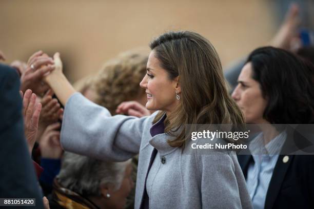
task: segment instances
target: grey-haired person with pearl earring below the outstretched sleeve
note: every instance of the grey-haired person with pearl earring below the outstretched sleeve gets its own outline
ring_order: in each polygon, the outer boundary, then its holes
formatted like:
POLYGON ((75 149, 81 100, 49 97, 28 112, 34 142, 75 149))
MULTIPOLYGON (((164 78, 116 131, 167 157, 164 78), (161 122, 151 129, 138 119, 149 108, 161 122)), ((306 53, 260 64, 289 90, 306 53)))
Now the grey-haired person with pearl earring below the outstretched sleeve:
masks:
POLYGON ((134 183, 130 161, 106 162, 66 152, 51 208, 124 208, 134 183))

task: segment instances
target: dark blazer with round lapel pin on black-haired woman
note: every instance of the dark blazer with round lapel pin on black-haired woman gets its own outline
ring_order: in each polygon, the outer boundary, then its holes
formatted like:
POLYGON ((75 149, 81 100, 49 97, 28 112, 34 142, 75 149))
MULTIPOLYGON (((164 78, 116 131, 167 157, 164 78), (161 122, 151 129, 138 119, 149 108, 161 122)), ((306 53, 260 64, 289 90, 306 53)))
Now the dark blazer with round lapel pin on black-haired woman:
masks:
MULTIPOLYGON (((290 139, 291 134, 288 134, 282 151, 291 150, 290 139)), ((238 160, 246 179, 253 158, 238 155, 238 160)), ((265 208, 314 208, 314 155, 279 155, 269 182, 265 208)))

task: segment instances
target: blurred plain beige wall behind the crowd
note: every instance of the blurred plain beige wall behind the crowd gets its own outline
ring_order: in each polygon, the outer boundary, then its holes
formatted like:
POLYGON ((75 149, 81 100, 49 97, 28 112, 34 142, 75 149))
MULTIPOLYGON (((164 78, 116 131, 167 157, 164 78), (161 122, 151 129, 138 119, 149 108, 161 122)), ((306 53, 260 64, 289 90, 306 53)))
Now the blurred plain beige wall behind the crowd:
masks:
POLYGON ((223 65, 270 39, 264 1, 0 1, 0 49, 7 63, 42 49, 60 51, 71 81, 100 69, 120 52, 147 47, 167 30, 207 37, 223 65))

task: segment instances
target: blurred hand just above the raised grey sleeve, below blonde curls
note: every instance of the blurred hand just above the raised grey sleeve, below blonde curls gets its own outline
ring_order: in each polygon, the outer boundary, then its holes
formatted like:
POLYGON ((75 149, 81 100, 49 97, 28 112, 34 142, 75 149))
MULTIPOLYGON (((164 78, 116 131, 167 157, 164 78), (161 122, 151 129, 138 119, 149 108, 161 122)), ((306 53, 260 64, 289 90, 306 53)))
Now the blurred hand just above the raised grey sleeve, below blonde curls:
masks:
POLYGON ((135 117, 149 116, 150 112, 137 101, 122 102, 115 111, 117 114, 126 114, 135 117))

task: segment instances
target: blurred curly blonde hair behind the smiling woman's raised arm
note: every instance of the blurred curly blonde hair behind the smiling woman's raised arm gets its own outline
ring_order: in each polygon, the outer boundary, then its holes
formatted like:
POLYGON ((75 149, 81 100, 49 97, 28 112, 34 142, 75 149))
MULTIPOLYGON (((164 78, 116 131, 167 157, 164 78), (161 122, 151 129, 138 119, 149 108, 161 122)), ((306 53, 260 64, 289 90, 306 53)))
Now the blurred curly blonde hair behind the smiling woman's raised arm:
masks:
POLYGON ((147 60, 148 53, 130 51, 106 62, 93 79, 94 102, 115 115, 121 102, 144 96, 145 89, 140 88, 140 82, 146 73, 147 60))

